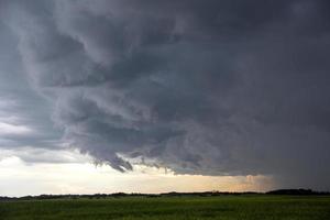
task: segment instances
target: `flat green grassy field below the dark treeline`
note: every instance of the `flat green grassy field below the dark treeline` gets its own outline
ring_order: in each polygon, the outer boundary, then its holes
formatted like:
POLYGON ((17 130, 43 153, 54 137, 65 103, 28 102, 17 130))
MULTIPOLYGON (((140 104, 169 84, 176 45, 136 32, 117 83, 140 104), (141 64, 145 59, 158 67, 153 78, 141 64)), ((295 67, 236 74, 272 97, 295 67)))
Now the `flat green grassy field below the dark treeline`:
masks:
POLYGON ((127 197, 1 201, 2 220, 51 219, 330 219, 330 197, 127 197))

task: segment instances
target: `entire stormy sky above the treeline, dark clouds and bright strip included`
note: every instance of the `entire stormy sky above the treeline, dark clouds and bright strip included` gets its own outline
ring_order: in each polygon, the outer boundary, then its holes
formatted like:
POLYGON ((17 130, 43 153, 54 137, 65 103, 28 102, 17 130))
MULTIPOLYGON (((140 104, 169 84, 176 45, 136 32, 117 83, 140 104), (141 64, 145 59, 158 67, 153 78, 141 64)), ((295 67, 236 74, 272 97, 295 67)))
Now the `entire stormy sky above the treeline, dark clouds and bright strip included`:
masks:
POLYGON ((0 0, 0 195, 330 190, 328 0, 0 0))

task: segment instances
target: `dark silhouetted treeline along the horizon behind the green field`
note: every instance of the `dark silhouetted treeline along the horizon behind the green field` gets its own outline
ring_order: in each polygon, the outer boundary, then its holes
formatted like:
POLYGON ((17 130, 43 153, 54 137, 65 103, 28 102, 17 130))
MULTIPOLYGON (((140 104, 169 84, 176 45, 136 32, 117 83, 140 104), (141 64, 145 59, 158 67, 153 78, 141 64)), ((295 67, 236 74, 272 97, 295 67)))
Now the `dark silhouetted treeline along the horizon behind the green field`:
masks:
POLYGON ((256 193, 256 191, 243 191, 243 193, 232 193, 232 191, 204 191, 204 193, 164 193, 164 194, 94 194, 94 195, 40 195, 40 196, 23 196, 23 197, 0 197, 0 201, 3 200, 34 200, 34 199, 101 199, 101 198, 122 198, 122 197, 182 197, 182 196, 200 196, 200 197, 211 197, 211 196, 241 196, 241 195, 293 195, 293 196, 330 196, 330 191, 314 191, 311 189, 277 189, 267 193, 256 193))

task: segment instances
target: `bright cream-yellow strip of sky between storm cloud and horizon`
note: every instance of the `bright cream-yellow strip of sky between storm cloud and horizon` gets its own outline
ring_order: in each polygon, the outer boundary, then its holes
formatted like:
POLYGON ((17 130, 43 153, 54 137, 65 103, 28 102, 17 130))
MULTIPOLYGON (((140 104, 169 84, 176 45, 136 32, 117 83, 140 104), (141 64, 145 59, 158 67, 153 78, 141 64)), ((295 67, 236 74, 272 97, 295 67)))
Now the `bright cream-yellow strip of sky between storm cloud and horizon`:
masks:
POLYGON ((119 173, 108 165, 96 166, 91 158, 74 151, 38 150, 29 162, 32 148, 1 150, 0 195, 41 194, 111 194, 164 191, 264 191, 272 189, 267 176, 200 176, 175 175, 164 168, 135 166, 134 172, 119 173), (53 156, 50 160, 36 157, 53 156), (62 157, 58 157, 58 156, 62 157), (56 160, 57 157, 57 160, 56 160), (47 162, 46 162, 47 161, 47 162))

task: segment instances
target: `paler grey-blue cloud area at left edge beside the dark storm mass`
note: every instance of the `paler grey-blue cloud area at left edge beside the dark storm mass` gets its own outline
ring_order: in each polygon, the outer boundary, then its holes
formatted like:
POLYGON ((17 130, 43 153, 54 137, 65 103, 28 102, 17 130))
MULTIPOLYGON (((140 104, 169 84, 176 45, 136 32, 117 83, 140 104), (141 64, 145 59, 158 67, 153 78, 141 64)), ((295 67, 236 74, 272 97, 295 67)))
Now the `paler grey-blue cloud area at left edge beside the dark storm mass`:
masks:
POLYGON ((6 21, 0 21, 0 147, 54 147, 61 135, 52 129, 51 109, 30 88, 20 64, 19 41, 6 21))

